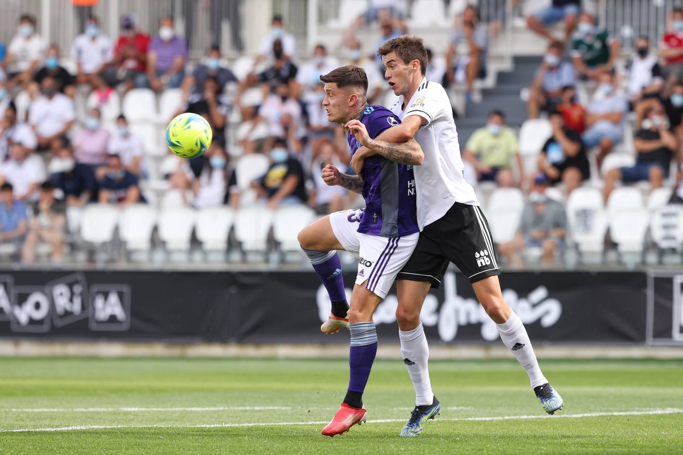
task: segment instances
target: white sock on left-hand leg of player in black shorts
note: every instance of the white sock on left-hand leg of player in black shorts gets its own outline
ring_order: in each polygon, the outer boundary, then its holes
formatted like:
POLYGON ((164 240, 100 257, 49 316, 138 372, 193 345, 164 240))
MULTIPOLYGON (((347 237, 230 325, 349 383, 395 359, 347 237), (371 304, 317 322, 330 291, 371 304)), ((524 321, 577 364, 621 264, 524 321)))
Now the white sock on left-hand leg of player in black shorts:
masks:
POLYGON ((429 347, 422 323, 408 332, 398 331, 401 339, 403 362, 408 367, 408 375, 415 387, 415 405, 431 405, 434 401, 432 383, 429 380, 429 347))

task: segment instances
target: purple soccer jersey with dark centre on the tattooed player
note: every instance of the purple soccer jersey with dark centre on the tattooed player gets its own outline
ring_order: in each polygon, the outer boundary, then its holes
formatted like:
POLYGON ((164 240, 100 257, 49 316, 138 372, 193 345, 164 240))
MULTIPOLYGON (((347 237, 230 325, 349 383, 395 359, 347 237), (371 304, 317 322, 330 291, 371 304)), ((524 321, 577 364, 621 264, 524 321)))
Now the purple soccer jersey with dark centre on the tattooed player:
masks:
MULTIPOLYGON (((401 121, 382 106, 365 106, 360 121, 371 138, 401 121)), ((350 132, 347 136, 351 156, 361 147, 350 132)), ((419 232, 417 192, 413 166, 399 164, 375 155, 363 163, 365 210, 359 233, 382 237, 402 237, 419 232)))

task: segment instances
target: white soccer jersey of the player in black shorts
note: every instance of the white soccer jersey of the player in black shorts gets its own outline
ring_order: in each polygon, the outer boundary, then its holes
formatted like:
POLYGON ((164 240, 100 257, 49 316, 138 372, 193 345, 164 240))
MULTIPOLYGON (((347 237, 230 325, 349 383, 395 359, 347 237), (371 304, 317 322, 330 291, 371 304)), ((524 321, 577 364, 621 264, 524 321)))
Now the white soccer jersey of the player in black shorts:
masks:
POLYGON ((420 231, 446 214, 455 202, 479 205, 474 188, 463 176, 458 132, 451 102, 440 84, 422 79, 417 91, 405 104, 403 96, 391 111, 403 120, 419 115, 427 120, 415 133, 425 154, 420 166, 413 168, 417 187, 417 223, 420 231))

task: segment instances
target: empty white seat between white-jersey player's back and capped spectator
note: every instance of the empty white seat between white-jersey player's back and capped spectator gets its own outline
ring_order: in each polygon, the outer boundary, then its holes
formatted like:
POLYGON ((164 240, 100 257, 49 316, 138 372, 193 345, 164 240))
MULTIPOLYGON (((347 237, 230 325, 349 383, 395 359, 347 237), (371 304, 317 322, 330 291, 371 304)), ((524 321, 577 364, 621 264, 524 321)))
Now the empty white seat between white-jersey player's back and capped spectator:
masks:
POLYGON ((511 241, 519 228, 524 196, 517 188, 497 188, 488 199, 486 218, 496 244, 511 241))

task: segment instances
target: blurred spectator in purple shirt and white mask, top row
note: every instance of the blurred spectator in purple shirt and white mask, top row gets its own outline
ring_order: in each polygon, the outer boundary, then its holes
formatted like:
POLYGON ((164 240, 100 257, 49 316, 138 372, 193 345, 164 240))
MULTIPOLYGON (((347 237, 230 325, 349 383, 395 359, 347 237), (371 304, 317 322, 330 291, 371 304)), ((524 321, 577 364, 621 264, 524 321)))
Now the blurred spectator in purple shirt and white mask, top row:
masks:
POLYGON ((159 20, 159 33, 152 39, 147 55, 147 78, 136 83, 161 91, 164 87, 177 89, 185 77, 187 43, 173 30, 173 18, 159 20))

